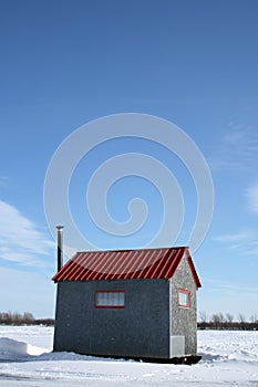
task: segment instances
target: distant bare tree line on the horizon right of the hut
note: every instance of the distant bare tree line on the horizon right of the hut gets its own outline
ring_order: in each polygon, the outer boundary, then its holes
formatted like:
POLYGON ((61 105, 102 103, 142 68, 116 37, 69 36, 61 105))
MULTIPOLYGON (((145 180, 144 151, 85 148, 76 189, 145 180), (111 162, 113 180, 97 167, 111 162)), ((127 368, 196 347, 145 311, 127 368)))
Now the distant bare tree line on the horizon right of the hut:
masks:
POLYGON ((237 318, 230 313, 223 314, 214 313, 208 316, 206 312, 199 313, 197 323, 199 330, 240 330, 240 331, 258 331, 257 315, 251 315, 249 321, 242 313, 239 313, 237 318))

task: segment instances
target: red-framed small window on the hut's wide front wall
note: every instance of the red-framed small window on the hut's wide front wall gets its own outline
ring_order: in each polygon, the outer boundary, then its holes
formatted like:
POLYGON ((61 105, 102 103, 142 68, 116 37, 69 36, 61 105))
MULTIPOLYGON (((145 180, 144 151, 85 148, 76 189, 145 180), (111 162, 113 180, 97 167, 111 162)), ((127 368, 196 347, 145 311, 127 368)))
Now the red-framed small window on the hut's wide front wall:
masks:
POLYGON ((95 307, 123 308, 124 291, 123 290, 95 291, 95 307))

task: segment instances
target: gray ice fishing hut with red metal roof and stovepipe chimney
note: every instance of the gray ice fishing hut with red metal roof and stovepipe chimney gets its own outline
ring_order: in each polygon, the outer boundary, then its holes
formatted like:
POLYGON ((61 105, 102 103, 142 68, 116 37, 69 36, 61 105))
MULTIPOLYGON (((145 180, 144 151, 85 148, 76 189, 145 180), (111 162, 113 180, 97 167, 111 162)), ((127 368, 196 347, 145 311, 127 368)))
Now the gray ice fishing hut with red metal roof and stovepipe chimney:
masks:
POLYGON ((164 360, 196 356, 200 282, 187 247, 78 252, 53 281, 54 351, 164 360))

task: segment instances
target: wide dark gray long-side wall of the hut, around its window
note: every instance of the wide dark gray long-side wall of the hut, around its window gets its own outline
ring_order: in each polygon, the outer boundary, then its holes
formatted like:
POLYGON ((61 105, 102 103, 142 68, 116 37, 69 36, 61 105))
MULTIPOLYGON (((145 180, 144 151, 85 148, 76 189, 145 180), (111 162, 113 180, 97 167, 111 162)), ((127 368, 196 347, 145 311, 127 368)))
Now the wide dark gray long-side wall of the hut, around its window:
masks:
POLYGON ((169 357, 169 282, 60 282, 54 351, 169 357), (95 308, 95 290, 125 290, 125 308, 95 308))

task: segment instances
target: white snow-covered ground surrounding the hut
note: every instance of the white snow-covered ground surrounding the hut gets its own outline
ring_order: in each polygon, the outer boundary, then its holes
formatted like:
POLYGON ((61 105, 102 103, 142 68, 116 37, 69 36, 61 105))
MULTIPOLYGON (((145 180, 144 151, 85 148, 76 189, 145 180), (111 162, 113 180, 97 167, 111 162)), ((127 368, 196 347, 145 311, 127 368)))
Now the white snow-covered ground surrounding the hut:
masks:
POLYGON ((193 366, 51 353, 53 328, 0 326, 0 386, 258 387, 258 332, 199 331, 193 366))

